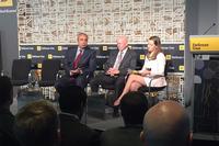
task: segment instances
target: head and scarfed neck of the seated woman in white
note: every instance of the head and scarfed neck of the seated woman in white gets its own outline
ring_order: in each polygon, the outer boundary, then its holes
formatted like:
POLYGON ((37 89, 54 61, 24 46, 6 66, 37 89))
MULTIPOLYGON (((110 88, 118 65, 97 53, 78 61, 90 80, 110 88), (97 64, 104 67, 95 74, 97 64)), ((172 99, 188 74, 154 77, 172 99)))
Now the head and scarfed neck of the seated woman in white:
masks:
POLYGON ((148 58, 155 59, 161 50, 161 41, 158 36, 151 36, 148 40, 148 58))

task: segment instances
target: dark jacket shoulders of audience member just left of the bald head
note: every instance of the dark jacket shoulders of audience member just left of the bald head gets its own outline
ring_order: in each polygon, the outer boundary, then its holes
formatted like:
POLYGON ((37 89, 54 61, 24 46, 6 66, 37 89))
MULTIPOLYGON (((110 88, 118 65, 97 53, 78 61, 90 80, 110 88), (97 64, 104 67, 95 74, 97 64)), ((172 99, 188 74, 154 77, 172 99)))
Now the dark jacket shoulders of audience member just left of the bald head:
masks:
POLYGON ((140 141, 141 126, 117 127, 101 135, 101 146, 143 146, 140 141))

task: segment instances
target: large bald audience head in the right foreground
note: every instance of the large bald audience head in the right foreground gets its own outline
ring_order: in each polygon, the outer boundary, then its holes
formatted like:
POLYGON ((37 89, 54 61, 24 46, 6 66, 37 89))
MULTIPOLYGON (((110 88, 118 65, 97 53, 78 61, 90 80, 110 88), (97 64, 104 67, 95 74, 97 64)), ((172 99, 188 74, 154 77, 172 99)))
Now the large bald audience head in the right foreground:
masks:
POLYGON ((145 115, 141 139, 145 146, 188 146, 189 117, 175 101, 163 101, 145 115))

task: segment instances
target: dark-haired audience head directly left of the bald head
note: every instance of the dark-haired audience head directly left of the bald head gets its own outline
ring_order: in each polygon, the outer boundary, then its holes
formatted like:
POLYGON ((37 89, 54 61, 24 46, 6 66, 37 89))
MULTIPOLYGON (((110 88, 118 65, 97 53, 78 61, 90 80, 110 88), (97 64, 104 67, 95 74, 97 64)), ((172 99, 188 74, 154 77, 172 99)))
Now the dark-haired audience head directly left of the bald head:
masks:
POLYGON ((126 126, 142 125, 148 101, 143 93, 131 91, 124 96, 120 102, 122 115, 126 126))

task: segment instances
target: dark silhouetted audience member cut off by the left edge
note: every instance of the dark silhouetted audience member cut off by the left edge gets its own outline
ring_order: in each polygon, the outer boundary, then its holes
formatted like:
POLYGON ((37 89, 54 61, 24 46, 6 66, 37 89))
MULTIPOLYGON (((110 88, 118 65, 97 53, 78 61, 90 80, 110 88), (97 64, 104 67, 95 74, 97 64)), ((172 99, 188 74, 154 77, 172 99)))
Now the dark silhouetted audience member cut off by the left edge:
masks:
POLYGON ((0 76, 0 145, 14 145, 14 115, 10 112, 13 102, 13 87, 7 76, 0 76))

